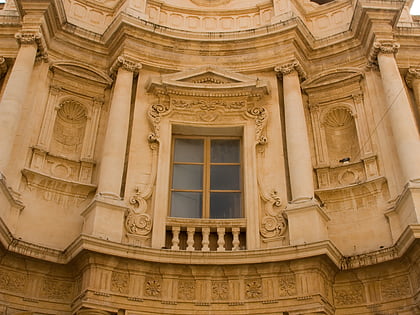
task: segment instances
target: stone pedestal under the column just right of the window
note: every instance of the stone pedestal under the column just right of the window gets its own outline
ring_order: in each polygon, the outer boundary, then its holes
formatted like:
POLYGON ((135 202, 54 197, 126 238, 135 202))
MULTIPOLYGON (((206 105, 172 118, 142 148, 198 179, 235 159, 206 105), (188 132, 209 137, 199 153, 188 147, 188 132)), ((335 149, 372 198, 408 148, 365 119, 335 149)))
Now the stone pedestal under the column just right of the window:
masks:
POLYGON ((328 240, 327 222, 330 219, 316 201, 290 203, 285 213, 289 225, 290 245, 328 240))

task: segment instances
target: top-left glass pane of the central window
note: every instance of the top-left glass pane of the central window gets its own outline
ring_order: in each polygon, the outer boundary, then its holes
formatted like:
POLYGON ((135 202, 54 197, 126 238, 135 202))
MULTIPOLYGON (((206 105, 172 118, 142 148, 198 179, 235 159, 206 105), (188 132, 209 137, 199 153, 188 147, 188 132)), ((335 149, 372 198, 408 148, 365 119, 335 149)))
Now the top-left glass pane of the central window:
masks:
POLYGON ((203 139, 175 139, 175 162, 203 162, 203 139))

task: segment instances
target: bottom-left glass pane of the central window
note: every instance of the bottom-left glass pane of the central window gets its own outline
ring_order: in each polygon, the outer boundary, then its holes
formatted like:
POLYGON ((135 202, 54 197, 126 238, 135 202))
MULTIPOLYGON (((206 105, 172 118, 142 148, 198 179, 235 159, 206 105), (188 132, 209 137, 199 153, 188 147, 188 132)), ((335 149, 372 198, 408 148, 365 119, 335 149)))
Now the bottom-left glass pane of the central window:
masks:
POLYGON ((171 216, 201 218, 202 194, 200 192, 172 192, 171 216))

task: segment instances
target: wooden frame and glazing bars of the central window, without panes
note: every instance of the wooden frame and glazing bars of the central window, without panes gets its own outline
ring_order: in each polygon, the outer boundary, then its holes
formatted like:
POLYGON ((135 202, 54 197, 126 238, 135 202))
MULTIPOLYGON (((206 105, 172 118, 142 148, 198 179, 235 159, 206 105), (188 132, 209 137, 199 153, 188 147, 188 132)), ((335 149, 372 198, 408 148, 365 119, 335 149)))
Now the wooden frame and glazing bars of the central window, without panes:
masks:
POLYGON ((206 219, 206 220, 232 220, 232 219, 242 219, 245 218, 245 210, 244 210, 244 159, 243 159, 243 139, 242 136, 230 136, 230 135, 198 135, 198 134, 173 134, 171 138, 171 161, 170 161, 170 178, 169 178, 169 196, 168 196, 168 214, 167 216, 170 218, 183 218, 183 219, 206 219), (175 142, 176 139, 202 139, 203 140, 203 162, 175 162, 175 142), (211 162, 211 141, 212 140, 238 140, 239 141, 239 162, 211 162), (174 178, 174 166, 175 165, 202 165, 202 175, 203 175, 203 182, 201 190, 193 190, 193 189, 174 189, 173 186, 173 178, 174 178), (210 179, 211 173, 210 169, 212 165, 239 165, 239 189, 211 189, 210 179), (174 191, 201 191, 202 193, 202 200, 201 200, 201 217, 178 217, 172 215, 172 193, 174 191), (223 193, 240 193, 240 214, 237 217, 229 217, 229 218, 215 218, 211 217, 211 207, 210 207, 210 196, 212 192, 223 192, 223 193))

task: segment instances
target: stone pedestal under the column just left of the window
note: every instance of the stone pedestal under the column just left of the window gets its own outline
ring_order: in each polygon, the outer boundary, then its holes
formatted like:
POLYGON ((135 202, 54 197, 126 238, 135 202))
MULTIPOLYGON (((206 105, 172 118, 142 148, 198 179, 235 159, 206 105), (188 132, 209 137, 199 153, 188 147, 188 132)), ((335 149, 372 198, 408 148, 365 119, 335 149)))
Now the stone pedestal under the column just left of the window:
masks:
POLYGON ((120 243, 127 206, 122 200, 97 195, 82 212, 82 233, 120 243))

